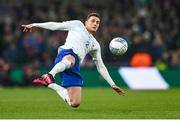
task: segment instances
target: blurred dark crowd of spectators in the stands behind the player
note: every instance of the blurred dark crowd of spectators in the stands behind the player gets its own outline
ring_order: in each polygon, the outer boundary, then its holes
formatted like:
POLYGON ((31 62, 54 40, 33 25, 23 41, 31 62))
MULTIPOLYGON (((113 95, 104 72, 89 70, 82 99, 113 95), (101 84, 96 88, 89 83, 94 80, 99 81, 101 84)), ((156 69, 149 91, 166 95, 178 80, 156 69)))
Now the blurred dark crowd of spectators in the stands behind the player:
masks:
MULTIPOLYGON (((84 21, 90 12, 101 15, 95 36, 107 66, 178 68, 179 11, 179 0, 0 0, 0 79, 10 81, 6 74, 16 67, 22 68, 28 79, 37 76, 42 67, 51 68, 57 48, 67 35, 37 28, 23 33, 22 24, 84 21), (128 41, 123 56, 112 55, 108 48, 110 40, 117 36, 128 41)), ((82 66, 93 67, 90 59, 87 55, 82 66)))

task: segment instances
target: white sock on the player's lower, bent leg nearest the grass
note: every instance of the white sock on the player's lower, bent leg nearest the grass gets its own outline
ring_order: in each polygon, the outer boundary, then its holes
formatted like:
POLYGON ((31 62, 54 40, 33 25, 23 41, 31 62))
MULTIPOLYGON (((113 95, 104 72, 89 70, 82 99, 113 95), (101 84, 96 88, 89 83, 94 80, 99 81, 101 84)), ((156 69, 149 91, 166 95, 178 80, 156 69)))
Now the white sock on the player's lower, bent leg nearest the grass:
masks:
POLYGON ((56 83, 51 83, 51 84, 48 85, 48 87, 55 90, 58 93, 58 95, 65 102, 68 103, 68 105, 71 105, 67 89, 61 87, 60 85, 57 85, 56 83))

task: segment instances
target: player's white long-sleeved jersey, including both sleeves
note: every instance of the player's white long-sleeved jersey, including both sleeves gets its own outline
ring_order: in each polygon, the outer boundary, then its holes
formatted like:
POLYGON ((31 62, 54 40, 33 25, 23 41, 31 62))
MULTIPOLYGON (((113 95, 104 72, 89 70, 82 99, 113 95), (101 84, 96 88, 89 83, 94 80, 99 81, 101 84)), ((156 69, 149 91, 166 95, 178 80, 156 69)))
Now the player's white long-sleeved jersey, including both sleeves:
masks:
POLYGON ((33 23, 35 27, 45 28, 49 30, 68 31, 66 42, 59 48, 73 49, 82 62, 87 53, 90 53, 95 61, 98 72, 112 86, 114 85, 101 58, 101 48, 97 40, 85 28, 84 24, 79 20, 66 22, 45 22, 33 23))

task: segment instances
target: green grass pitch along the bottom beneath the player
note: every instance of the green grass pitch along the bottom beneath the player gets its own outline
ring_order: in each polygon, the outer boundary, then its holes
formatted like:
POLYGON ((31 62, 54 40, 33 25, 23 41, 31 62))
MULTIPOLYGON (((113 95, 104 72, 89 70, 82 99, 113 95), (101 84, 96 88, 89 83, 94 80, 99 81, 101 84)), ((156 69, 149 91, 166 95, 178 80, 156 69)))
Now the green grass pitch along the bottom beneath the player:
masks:
POLYGON ((111 88, 83 88, 82 104, 71 108, 48 88, 0 88, 4 118, 180 118, 180 89, 133 91, 124 97, 111 88))

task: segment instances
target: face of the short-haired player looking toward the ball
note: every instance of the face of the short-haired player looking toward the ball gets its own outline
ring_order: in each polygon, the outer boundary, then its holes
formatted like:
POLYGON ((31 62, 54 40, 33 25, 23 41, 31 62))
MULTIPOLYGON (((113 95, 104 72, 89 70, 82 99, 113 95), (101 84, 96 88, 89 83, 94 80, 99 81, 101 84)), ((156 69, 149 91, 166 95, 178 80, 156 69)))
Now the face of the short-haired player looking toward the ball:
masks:
POLYGON ((100 19, 96 16, 91 16, 89 19, 85 22, 85 27, 90 33, 95 33, 100 24, 100 19))

